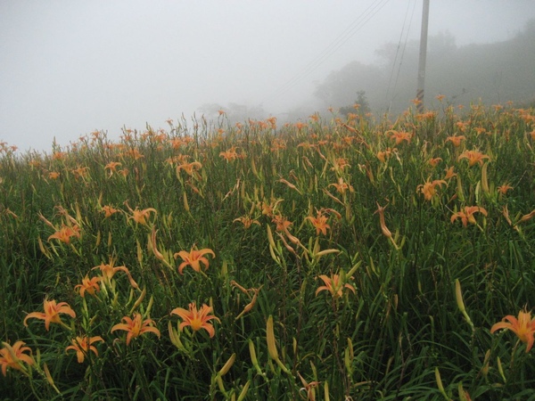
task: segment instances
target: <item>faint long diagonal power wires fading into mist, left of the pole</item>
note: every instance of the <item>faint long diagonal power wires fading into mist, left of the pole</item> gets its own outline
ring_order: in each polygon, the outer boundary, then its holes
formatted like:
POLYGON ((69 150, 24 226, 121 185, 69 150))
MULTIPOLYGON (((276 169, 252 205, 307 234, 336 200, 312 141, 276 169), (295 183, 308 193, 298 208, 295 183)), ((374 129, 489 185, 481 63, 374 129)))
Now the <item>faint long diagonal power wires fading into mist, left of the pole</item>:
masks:
POLYGON ((308 77, 312 72, 317 70, 317 68, 323 64, 336 50, 338 50, 342 45, 344 45, 350 37, 355 35, 359 29, 364 27, 366 23, 371 20, 374 15, 381 11, 390 0, 374 0, 373 4, 370 4, 366 10, 358 16, 357 20, 351 22, 351 24, 342 31, 338 37, 336 37, 333 42, 325 49, 323 52, 319 53, 317 57, 310 61, 303 69, 301 69, 293 78, 289 79, 284 83, 283 86, 280 86, 273 94, 264 98, 262 102, 274 99, 282 94, 287 93, 293 86, 295 86, 300 80, 308 77))

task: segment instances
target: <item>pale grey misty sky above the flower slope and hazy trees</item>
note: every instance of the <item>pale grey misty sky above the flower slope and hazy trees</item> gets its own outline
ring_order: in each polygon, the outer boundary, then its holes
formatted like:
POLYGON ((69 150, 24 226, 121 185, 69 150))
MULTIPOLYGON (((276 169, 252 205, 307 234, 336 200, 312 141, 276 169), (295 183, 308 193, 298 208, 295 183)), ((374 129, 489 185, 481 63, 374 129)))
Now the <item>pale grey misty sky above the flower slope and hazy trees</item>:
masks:
MULTIPOLYGON (((116 140, 213 102, 277 116, 402 29, 418 39, 422 1, 2 0, 0 140, 50 152, 54 137, 116 140)), ((533 0, 431 0, 429 35, 490 43, 533 18, 533 0)))

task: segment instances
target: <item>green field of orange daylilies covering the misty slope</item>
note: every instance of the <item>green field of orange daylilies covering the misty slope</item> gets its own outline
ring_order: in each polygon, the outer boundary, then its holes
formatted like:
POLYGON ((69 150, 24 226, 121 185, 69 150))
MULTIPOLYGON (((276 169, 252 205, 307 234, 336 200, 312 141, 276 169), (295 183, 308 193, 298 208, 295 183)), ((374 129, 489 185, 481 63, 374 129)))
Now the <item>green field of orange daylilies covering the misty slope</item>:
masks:
POLYGON ((535 399, 535 111, 440 104, 3 143, 1 398, 535 399))

